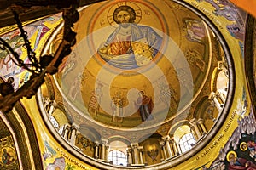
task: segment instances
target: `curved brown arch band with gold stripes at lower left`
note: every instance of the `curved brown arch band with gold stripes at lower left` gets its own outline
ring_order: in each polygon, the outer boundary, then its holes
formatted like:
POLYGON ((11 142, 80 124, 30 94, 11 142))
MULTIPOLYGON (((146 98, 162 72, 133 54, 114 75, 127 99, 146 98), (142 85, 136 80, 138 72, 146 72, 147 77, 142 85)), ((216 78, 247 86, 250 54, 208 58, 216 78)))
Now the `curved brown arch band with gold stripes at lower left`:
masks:
MULTIPOLYGON (((0 82, 3 82, 0 78, 0 82)), ((3 114, 3 113, 1 113, 3 114)), ((44 169, 38 139, 32 121, 20 102, 15 104, 15 111, 4 114, 9 127, 14 132, 15 147, 20 157, 20 167, 23 169, 44 169)))

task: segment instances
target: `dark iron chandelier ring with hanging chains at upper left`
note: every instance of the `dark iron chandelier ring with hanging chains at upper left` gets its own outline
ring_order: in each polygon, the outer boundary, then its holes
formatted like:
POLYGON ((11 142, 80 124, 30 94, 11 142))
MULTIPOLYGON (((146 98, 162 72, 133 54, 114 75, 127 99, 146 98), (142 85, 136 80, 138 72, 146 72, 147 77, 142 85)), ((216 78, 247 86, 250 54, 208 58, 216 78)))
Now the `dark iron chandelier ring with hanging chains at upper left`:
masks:
POLYGON ((15 21, 20 29, 20 37, 24 40, 29 63, 27 64, 20 59, 19 54, 17 54, 15 50, 10 47, 9 43, 5 42, 2 38, 0 38, 0 50, 7 50, 8 54, 12 56, 11 59, 14 61, 15 65, 30 71, 32 75, 23 86, 17 89, 17 91, 15 91, 11 85, 11 80, 0 84, 0 111, 7 113, 12 110, 15 103, 21 98, 32 98, 32 96, 37 93, 38 88, 44 83, 45 75, 53 75, 58 71, 58 66, 61 64, 62 59, 71 53, 71 48, 76 42, 76 32, 73 31, 73 24, 79 20, 77 7, 78 5, 71 3, 69 7, 63 8, 62 18, 64 20, 64 27, 61 44, 54 55, 46 54, 39 57, 39 59, 32 51, 31 44, 27 39, 27 32, 24 31, 19 19, 19 14, 13 11, 15 21))

